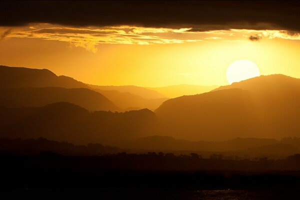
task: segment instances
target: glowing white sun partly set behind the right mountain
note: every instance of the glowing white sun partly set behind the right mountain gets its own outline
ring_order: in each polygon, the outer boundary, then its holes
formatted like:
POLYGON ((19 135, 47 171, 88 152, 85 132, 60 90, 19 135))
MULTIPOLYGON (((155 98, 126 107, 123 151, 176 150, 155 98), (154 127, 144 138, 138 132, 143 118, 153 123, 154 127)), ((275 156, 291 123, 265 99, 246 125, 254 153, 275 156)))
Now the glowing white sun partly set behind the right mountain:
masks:
POLYGON ((229 84, 259 75, 260 73, 257 65, 254 62, 245 59, 232 62, 226 70, 226 77, 229 84))

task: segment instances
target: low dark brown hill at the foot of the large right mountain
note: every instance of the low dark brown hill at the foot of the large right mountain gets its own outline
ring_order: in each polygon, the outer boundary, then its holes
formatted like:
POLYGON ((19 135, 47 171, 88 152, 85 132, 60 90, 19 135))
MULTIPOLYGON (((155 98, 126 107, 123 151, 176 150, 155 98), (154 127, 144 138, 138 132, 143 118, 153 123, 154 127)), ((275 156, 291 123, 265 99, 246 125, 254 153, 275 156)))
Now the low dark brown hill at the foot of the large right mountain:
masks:
POLYGON ((240 157, 271 157, 282 158, 291 154, 300 153, 300 138, 234 138, 224 141, 191 141, 175 139, 171 136, 146 136, 122 142, 117 146, 131 149, 134 152, 174 152, 189 153, 197 152, 202 156, 209 157, 213 153, 222 154, 226 159, 234 156, 240 157))

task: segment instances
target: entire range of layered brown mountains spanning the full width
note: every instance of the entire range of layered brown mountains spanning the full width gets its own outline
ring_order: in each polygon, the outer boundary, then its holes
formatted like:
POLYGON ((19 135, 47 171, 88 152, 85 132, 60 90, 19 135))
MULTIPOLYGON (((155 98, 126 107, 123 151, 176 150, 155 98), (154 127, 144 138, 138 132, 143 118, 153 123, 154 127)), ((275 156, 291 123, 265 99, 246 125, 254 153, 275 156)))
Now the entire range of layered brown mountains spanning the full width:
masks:
MULTIPOLYGON (((47 69, 0 66, 0 137, 7 138, 42 136, 126 148, 230 150, 221 141, 240 137, 265 138, 269 143, 260 146, 288 149, 278 141, 300 136, 298 102, 300 79, 282 74, 167 99, 149 88, 96 86, 47 69), (149 137, 153 135, 158 139, 149 137)), ((247 142, 251 145, 244 140, 237 143, 253 151, 259 147, 253 146, 256 140, 247 142)))

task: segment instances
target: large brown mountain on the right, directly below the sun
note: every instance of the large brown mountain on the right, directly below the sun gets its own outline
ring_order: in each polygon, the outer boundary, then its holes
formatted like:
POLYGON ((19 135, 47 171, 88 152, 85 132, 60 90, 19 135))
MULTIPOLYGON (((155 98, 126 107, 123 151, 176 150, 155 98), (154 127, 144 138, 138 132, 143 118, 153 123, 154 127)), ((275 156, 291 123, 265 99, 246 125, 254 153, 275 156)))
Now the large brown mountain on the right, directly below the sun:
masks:
POLYGON ((300 79, 274 74, 166 100, 161 133, 191 140, 300 136, 300 79))

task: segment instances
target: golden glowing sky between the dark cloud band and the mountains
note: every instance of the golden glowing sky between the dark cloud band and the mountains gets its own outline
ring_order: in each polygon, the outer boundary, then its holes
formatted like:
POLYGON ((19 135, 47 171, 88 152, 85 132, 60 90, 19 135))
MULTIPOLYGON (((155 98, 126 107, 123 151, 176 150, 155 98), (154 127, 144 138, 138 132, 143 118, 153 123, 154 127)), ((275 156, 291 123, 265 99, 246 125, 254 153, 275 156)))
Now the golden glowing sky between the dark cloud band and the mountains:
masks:
POLYGON ((225 85, 228 65, 300 78, 300 35, 286 30, 190 31, 49 23, 0 27, 0 64, 47 68, 98 85, 225 85), (250 40, 251 38, 252 40, 250 40))

